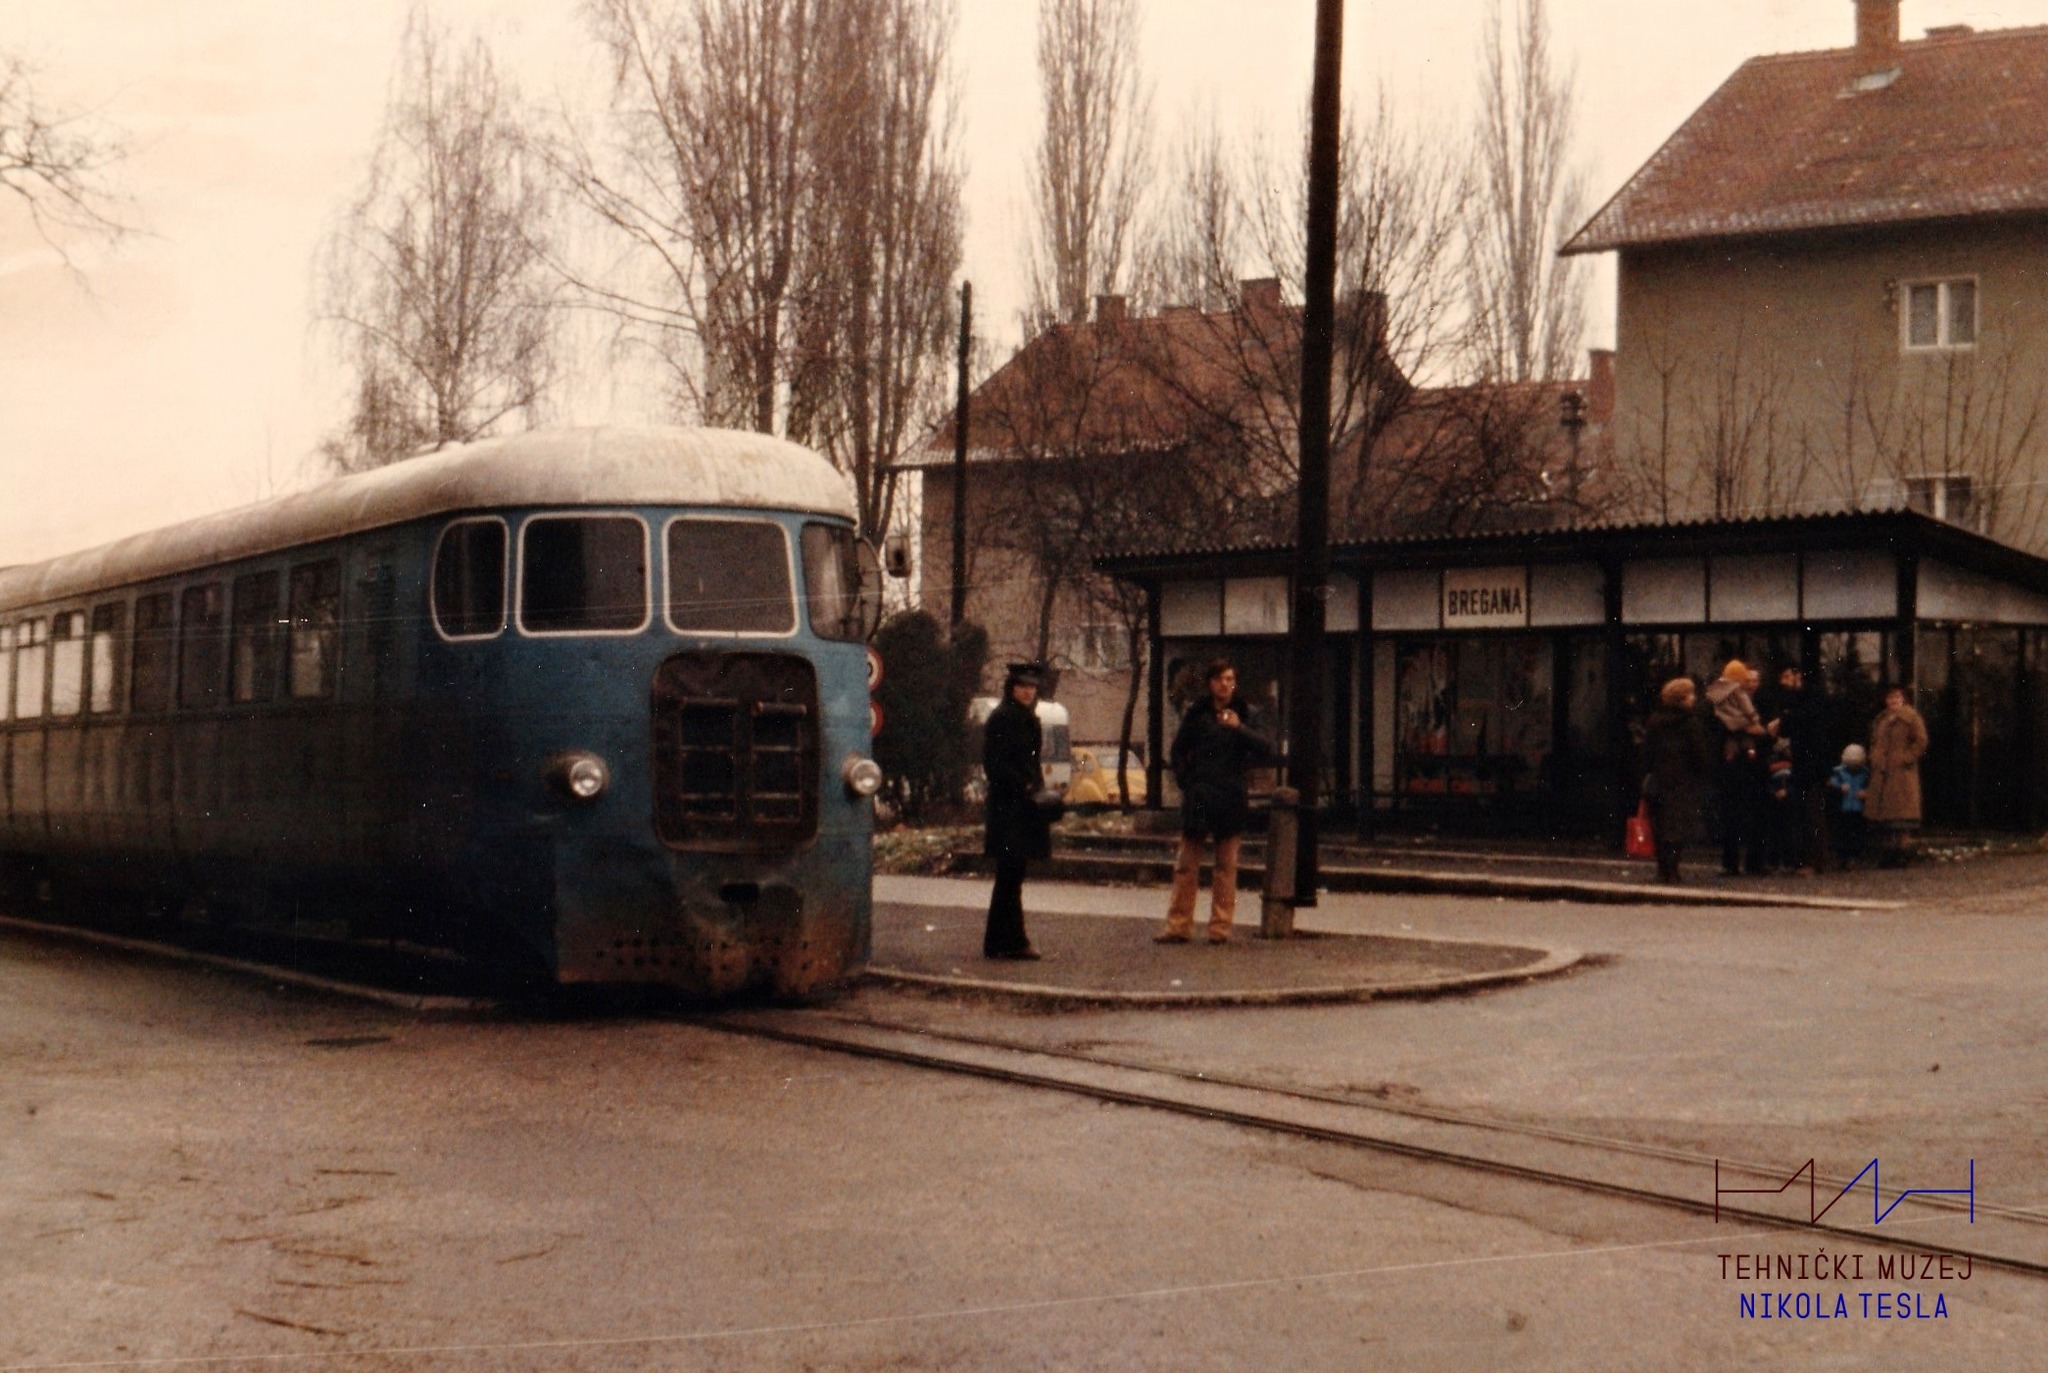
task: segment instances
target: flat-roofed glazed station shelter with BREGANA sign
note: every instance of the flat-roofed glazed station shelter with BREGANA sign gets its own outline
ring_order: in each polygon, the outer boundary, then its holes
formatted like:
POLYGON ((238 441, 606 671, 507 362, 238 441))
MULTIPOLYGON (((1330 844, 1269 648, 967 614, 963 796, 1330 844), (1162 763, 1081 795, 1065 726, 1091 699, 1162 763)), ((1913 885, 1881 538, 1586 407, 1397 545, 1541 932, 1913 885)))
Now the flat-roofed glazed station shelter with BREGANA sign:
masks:
MULTIPOLYGON (((1284 748, 1290 547, 1098 568, 1149 598, 1149 795, 1200 670, 1231 658, 1284 748)), ((2048 826, 2048 559, 1917 510, 1589 525, 1333 549, 1323 658, 1331 822, 1618 836, 1642 721, 1731 658, 1825 693, 1831 748, 1886 684, 1927 717, 1927 822, 2048 826)), ((1165 797, 1169 799, 1169 797, 1165 797)))

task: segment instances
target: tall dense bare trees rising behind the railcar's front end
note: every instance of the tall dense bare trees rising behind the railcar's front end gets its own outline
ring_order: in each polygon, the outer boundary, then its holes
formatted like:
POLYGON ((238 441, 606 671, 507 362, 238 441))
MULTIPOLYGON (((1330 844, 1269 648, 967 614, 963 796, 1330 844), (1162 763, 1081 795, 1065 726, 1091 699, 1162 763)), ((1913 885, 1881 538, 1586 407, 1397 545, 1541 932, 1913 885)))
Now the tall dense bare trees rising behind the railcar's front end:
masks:
POLYGON ((950 0, 588 0, 612 133, 553 148, 627 244, 565 266, 653 340, 676 408, 821 447, 881 537, 950 352, 950 0))

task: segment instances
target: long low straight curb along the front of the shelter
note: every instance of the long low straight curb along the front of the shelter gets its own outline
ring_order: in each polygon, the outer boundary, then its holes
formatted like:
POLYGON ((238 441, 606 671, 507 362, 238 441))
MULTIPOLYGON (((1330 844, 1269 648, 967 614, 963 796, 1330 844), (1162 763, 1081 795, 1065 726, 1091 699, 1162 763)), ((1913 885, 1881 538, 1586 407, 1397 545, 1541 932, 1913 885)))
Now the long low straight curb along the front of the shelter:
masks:
MULTIPOLYGON (((954 855, 958 871, 981 873, 981 855, 954 855)), ((1165 885, 1171 863, 1157 859, 1055 857, 1040 877, 1057 881, 1124 881, 1165 885)), ((1208 865, 1202 865, 1208 873, 1208 865)), ((1497 896, 1520 902, 1583 902, 1589 906, 1745 906, 1798 910, 1905 910, 1905 902, 1853 900, 1845 896, 1796 896, 1786 891, 1726 891, 1718 887, 1669 887, 1663 883, 1597 881, 1585 877, 1487 877, 1419 867, 1325 867, 1325 891, 1403 896, 1497 896)), ((1239 889, 1255 889, 1264 869, 1237 867, 1239 889)))

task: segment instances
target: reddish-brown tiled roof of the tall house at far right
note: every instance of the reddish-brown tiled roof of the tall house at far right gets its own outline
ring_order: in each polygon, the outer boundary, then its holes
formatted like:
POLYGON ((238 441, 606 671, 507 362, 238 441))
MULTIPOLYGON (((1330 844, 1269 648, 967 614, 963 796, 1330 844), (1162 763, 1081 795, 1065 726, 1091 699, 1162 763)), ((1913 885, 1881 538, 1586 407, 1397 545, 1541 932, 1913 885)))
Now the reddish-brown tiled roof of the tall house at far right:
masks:
POLYGON ((1753 57, 1563 252, 2048 213, 2048 27, 1753 57))

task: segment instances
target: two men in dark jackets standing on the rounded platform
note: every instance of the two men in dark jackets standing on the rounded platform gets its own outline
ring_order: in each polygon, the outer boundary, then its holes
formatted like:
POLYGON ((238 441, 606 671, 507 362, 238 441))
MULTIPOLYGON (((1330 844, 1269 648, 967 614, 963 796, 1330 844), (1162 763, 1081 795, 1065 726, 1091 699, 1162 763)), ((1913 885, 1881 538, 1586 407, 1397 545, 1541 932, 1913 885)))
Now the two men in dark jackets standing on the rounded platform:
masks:
MULTIPOLYGON (((985 848, 995 861, 995 889, 981 937, 985 959, 1036 959, 1024 932, 1024 871, 1051 855, 1057 799, 1044 793, 1038 766, 1038 684, 1042 668, 1014 662, 1004 678, 1004 699, 981 734, 981 771, 989 781, 985 848)), ((1237 668, 1217 658, 1204 670, 1202 695, 1182 713, 1169 752, 1182 791, 1180 852, 1174 859, 1174 896, 1167 898, 1161 945, 1194 937, 1194 902, 1202 848, 1214 844, 1217 865, 1208 887, 1210 945, 1231 943, 1237 918, 1237 846, 1251 822, 1251 768, 1272 760, 1272 742, 1253 727, 1251 709, 1237 695, 1237 668)))

